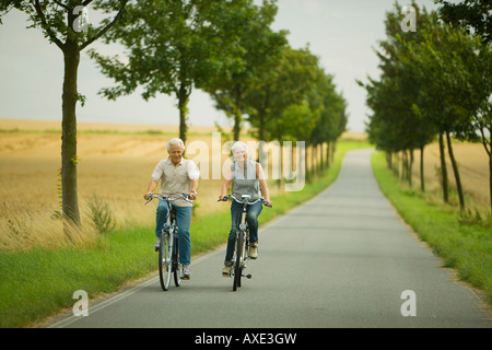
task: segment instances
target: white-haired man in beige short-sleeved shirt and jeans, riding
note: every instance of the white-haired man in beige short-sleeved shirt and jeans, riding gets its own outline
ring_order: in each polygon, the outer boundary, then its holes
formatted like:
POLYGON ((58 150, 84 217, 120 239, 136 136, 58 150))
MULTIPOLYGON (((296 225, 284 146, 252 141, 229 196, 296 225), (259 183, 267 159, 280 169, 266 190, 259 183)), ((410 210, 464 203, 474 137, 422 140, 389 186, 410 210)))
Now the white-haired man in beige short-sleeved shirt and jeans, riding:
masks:
MULTIPOLYGON (((152 173, 152 179, 149 183, 147 194, 143 196, 145 200, 149 200, 149 195, 157 187, 161 182, 160 195, 179 196, 181 194, 189 194, 189 199, 195 200, 197 198, 198 178, 200 172, 194 161, 183 158, 185 151, 185 144, 180 139, 172 139, 166 145, 167 153, 169 154, 167 160, 162 160, 155 166, 152 173)), ((189 265, 191 262, 191 240, 189 235, 189 226, 191 222, 192 205, 184 199, 178 199, 173 203, 176 209, 176 222, 178 225, 179 237, 179 262, 183 265, 183 279, 189 280, 191 271, 189 265)), ((166 222, 167 217, 167 202, 160 200, 156 212, 156 226, 155 235, 157 242, 155 243, 155 250, 159 249, 161 244, 162 229, 166 222)))

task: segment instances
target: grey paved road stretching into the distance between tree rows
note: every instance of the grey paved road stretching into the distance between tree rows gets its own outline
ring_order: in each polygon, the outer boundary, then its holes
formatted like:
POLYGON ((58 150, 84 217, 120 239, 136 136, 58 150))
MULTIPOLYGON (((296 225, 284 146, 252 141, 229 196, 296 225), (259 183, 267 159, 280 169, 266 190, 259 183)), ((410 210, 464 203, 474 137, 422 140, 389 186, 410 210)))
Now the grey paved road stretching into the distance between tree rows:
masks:
POLYGON ((192 279, 178 289, 162 292, 152 278, 91 304, 87 317, 52 326, 491 327, 478 296, 453 280, 382 195, 371 152, 349 152, 329 189, 260 231, 253 279, 237 292, 221 276, 222 248, 195 260, 192 279), (414 298, 401 299, 408 290, 414 298), (415 316, 402 316, 403 303, 415 316))

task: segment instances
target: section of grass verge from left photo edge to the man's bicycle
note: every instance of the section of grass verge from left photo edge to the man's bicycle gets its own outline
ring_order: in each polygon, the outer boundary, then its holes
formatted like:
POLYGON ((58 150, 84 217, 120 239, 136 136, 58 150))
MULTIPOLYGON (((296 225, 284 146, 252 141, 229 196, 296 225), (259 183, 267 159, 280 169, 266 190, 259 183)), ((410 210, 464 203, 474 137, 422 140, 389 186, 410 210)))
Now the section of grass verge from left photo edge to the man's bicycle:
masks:
POLYGON ((23 327, 74 304, 73 292, 114 292, 155 268, 148 230, 102 238, 94 249, 34 249, 0 255, 0 327, 23 327))

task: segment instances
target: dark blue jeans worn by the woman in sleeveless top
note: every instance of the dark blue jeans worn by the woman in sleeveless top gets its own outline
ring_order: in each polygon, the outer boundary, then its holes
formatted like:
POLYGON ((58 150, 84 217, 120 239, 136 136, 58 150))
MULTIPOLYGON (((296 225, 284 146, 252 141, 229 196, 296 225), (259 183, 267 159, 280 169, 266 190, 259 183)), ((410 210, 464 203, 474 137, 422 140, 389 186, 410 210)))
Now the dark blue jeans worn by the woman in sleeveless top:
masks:
MULTIPOLYGON (((258 242, 258 217, 261 213, 263 206, 261 202, 248 206, 246 212, 246 222, 249 228, 249 243, 258 242)), ((227 250, 225 253, 225 261, 231 261, 234 255, 234 246, 236 244, 236 231, 239 230, 241 214, 243 212, 243 205, 233 201, 231 205, 231 232, 229 233, 227 250)))

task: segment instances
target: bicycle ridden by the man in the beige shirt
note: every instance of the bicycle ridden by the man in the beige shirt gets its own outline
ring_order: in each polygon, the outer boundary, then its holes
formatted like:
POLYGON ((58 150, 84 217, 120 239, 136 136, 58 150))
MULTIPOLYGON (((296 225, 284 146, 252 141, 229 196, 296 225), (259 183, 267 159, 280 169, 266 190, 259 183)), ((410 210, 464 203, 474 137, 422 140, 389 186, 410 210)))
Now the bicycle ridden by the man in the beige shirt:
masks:
POLYGON ((190 203, 192 203, 192 200, 189 200, 189 196, 186 194, 175 198, 150 194, 145 205, 154 198, 167 202, 167 217, 162 228, 161 244, 159 246, 159 279, 163 291, 166 292, 171 287, 171 275, 174 273, 174 284, 176 287, 181 284, 181 264, 179 262, 179 240, 177 236, 178 226, 176 223, 176 209, 172 203, 180 198, 184 198, 190 203))

